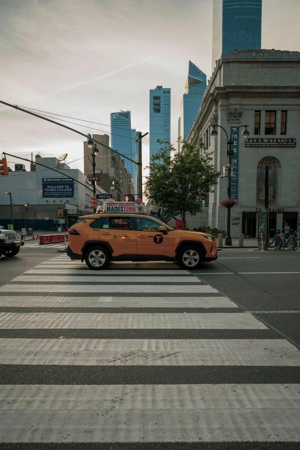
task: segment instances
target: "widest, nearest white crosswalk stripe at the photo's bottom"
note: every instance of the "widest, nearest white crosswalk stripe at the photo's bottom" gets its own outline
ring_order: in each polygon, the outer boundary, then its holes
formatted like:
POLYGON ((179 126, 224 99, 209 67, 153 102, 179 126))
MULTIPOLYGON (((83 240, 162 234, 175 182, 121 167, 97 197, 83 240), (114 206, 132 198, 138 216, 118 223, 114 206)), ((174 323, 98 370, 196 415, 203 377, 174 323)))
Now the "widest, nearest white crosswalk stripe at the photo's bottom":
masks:
POLYGON ((276 441, 279 448, 280 442, 299 441, 299 389, 279 383, 4 385, 1 437, 40 448, 50 442, 80 448, 91 440, 107 447, 120 442, 123 448, 133 442, 222 448, 224 442, 276 441))

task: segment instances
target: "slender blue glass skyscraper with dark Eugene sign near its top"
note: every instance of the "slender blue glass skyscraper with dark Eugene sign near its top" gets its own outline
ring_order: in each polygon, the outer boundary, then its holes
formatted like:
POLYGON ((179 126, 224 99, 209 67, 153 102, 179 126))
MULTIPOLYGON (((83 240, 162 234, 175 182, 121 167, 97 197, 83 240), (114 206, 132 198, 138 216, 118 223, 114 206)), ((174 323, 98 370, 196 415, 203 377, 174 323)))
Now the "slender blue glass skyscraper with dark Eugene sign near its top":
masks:
POLYGON ((169 87, 157 86, 155 89, 150 89, 150 158, 161 149, 157 139, 170 142, 170 97, 169 87))

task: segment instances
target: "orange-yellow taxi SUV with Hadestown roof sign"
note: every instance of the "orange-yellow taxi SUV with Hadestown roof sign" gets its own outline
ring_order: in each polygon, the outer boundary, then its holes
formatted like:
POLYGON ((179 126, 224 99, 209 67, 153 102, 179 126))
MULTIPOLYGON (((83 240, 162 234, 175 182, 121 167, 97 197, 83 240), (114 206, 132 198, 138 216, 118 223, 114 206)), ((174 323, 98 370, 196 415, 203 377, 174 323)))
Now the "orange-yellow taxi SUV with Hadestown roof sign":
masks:
POLYGON ((104 202, 100 214, 82 216, 68 230, 67 255, 93 270, 112 261, 173 261, 197 269, 217 259, 214 236, 174 229, 144 211, 144 203, 104 202))

